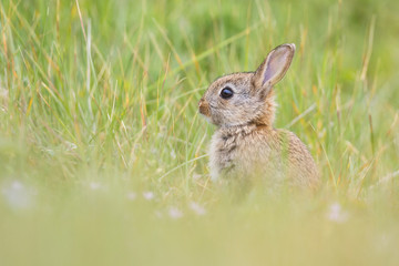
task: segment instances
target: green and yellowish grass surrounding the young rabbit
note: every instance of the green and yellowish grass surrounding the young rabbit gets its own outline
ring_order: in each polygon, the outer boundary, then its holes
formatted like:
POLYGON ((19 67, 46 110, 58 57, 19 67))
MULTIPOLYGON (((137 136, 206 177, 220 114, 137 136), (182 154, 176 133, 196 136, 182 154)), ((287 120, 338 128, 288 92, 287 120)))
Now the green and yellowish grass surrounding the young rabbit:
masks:
POLYGON ((0 265, 397 265, 398 1, 0 3, 0 265), (197 101, 297 53, 313 197, 209 181, 197 101))

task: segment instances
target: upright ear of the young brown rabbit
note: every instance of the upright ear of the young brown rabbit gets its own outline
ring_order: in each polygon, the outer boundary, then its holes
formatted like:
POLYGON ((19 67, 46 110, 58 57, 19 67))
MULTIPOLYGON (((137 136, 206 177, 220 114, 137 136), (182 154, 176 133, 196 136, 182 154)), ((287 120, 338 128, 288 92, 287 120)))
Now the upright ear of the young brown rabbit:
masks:
POLYGON ((255 89, 270 88, 283 79, 287 72, 295 53, 295 44, 286 43, 273 49, 265 61, 255 71, 253 83, 255 89))

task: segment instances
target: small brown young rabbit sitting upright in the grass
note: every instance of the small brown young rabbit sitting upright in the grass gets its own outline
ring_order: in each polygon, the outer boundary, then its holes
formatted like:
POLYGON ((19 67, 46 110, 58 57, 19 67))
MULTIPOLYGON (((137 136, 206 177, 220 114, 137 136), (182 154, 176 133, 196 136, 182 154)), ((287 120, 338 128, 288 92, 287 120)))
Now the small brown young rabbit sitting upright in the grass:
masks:
POLYGON ((294 133, 273 127, 273 85, 287 72, 294 53, 295 44, 282 44, 255 72, 218 78, 201 99, 200 113, 218 126, 211 142, 212 180, 260 177, 273 187, 318 186, 318 171, 306 145, 294 133))

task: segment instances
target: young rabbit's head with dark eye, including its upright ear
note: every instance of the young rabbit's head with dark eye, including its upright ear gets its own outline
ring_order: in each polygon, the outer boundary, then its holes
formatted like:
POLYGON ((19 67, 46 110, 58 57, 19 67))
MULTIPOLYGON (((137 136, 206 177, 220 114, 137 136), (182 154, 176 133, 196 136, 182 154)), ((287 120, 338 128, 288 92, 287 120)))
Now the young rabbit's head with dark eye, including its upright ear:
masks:
POLYGON ((294 53, 295 44, 282 44, 269 52, 255 72, 218 78, 201 99, 200 113, 218 126, 272 125, 275 115, 272 89, 287 72, 294 53))

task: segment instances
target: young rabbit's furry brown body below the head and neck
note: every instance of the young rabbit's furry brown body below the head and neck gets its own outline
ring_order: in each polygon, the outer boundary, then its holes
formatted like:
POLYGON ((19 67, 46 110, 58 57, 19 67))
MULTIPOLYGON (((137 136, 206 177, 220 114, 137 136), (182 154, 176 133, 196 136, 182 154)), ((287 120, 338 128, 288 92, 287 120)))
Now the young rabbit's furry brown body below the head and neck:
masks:
POLYGON ((316 164, 306 145, 291 132, 245 125, 218 130, 209 151, 211 175, 223 178, 263 178, 270 185, 285 182, 316 187, 316 164))

